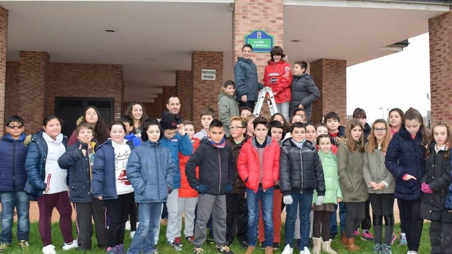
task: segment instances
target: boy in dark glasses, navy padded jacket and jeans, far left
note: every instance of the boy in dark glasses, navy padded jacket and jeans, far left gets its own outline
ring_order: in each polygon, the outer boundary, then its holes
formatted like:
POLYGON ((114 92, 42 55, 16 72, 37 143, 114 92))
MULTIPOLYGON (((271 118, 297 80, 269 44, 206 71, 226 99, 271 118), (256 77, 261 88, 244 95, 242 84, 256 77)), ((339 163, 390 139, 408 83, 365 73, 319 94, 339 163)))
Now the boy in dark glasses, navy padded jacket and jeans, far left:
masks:
POLYGON ((5 123, 8 134, 0 140, 0 197, 2 199, 2 233, 0 252, 11 246, 14 207, 17 210, 17 240, 23 250, 27 250, 30 235, 30 219, 27 193, 24 191, 27 174, 24 146, 24 120, 17 115, 10 116, 5 123))

